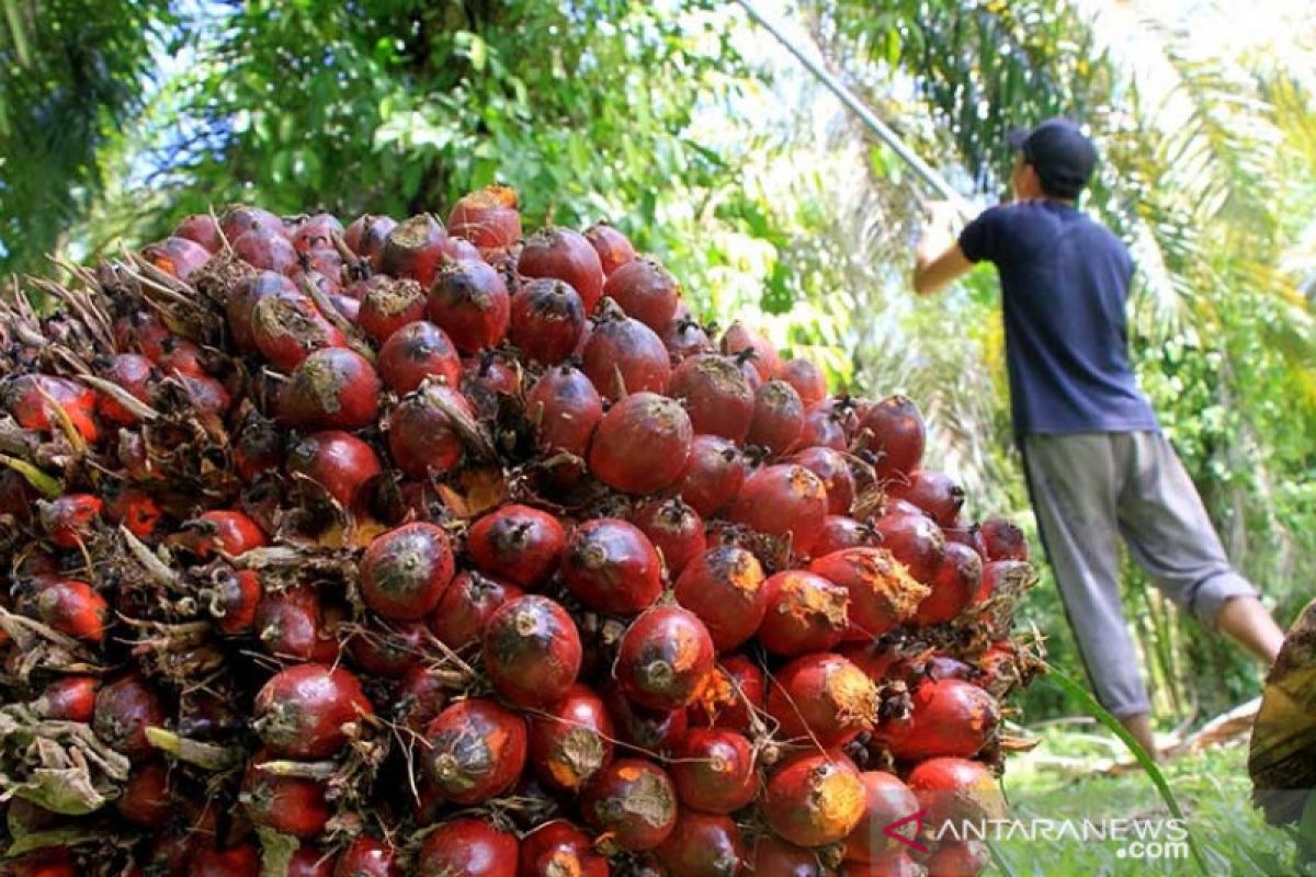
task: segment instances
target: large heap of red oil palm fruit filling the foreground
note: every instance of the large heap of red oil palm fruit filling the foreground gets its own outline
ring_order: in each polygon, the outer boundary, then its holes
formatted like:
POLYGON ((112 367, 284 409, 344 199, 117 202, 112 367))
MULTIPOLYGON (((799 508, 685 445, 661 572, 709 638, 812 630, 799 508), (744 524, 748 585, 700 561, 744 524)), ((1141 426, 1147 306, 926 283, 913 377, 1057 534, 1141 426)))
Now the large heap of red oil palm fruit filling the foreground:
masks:
POLYGON ((908 398, 499 187, 70 276, 0 313, 0 873, 983 866, 1028 552, 908 398))

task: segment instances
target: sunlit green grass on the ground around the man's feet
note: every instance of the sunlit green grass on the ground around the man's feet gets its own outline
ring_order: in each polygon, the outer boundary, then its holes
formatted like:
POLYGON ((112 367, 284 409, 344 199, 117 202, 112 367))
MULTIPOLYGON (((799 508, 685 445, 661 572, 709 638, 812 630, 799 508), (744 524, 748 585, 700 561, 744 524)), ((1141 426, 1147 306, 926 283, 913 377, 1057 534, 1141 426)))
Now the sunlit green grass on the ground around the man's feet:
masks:
MULTIPOLYGON (((991 873, 1015 877, 1074 874, 1200 874, 1202 866, 1187 845, 1169 851, 1138 852, 1124 840, 1087 840, 1073 836, 1082 820, 1099 826, 1101 819, 1133 819, 1144 830, 1169 830, 1169 805, 1144 770, 1117 776, 1095 773, 1112 756, 1128 759, 1117 740, 1100 727, 1090 732, 1049 728, 1033 752, 1012 757, 1005 773, 1011 817, 1030 820, 1069 819, 1075 830, 1063 838, 1005 838, 995 843, 999 865, 991 873)), ((1233 744, 1179 756, 1161 765, 1161 774, 1184 817, 1184 826, 1205 860, 1207 873, 1240 877, 1316 876, 1316 866, 1295 859, 1292 835, 1266 824, 1252 806, 1246 744, 1233 744)), ((1130 832, 1136 828, 1130 827, 1130 832)), ((1145 835, 1150 840, 1150 835, 1145 835)), ((1167 834, 1161 840, 1175 840, 1167 834)))

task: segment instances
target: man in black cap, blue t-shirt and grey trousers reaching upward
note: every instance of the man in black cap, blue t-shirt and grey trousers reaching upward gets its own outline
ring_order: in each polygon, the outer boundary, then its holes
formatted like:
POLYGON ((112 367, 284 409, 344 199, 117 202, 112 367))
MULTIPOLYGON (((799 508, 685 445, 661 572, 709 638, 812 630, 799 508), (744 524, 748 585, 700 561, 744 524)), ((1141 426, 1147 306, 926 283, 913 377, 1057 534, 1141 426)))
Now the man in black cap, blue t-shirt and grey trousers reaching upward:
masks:
POLYGON ((1015 131, 1015 201, 951 237, 945 210, 915 252, 937 292, 976 262, 1000 273, 1015 437, 1065 611, 1098 698, 1155 755, 1150 705, 1119 598, 1116 535, 1157 586, 1203 625, 1271 663, 1283 634, 1234 572, 1129 364, 1133 262, 1075 209, 1096 149, 1062 118, 1015 131))

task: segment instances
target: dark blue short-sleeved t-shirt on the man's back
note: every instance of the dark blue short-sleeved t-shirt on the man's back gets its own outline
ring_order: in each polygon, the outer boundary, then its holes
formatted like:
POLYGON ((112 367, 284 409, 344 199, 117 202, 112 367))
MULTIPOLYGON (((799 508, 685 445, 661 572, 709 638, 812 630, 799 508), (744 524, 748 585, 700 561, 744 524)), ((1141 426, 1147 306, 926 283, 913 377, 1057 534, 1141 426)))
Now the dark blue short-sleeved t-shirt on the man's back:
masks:
POLYGON ((1158 429, 1129 364, 1119 238, 1071 206, 1020 201, 978 216, 959 249, 1000 271, 1016 435, 1158 429))

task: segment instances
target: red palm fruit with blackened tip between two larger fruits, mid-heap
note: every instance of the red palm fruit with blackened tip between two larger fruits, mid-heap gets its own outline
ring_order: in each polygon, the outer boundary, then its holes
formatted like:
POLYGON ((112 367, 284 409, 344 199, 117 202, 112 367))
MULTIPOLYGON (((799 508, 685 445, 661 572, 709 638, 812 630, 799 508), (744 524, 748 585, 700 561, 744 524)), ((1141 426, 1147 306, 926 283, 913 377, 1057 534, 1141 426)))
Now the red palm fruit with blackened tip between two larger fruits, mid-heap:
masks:
POLYGON ((566 531, 547 511, 505 505, 466 534, 466 551, 484 573, 533 590, 558 568, 566 531))

